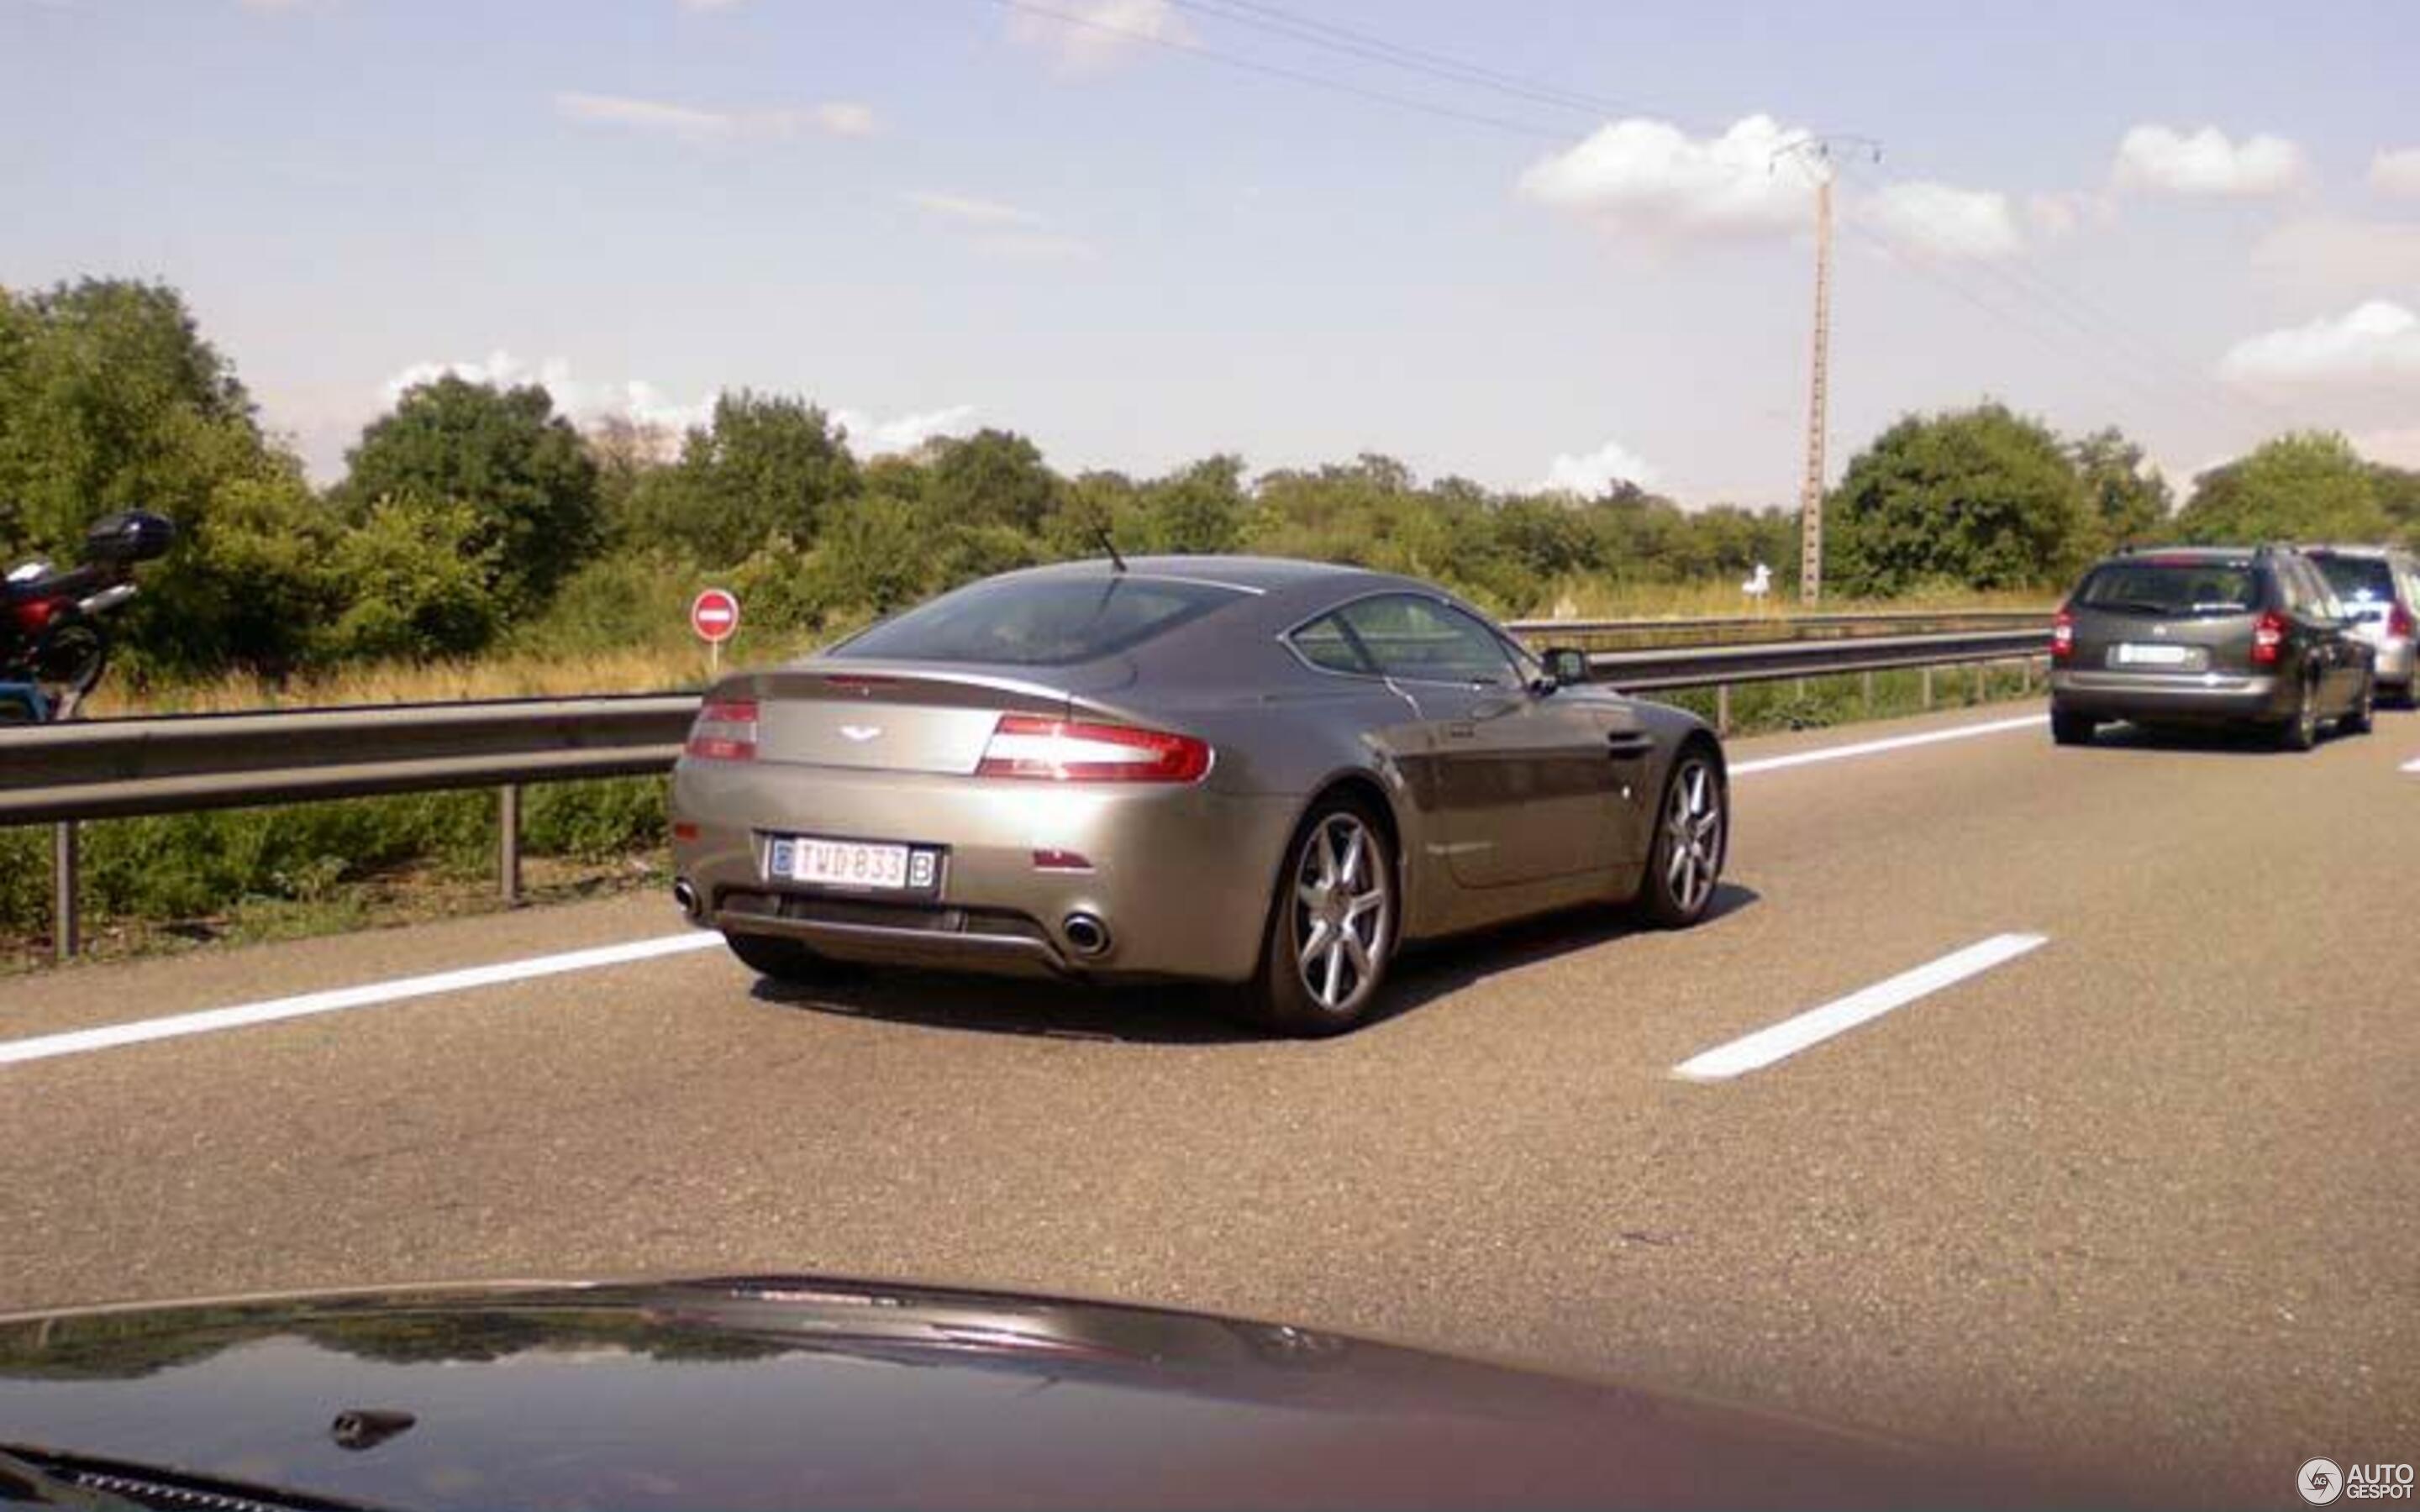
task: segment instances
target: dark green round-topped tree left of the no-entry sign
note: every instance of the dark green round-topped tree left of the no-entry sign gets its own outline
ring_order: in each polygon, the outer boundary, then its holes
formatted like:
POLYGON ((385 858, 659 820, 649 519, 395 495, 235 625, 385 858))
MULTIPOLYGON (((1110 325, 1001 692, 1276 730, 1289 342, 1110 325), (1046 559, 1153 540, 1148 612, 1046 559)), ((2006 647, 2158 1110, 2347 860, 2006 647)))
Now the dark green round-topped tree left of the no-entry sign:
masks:
POLYGON ((598 464, 537 385, 499 389, 448 373, 414 385, 346 452, 353 520, 394 501, 438 520, 469 510, 469 552, 506 612, 530 612, 598 544, 598 464))

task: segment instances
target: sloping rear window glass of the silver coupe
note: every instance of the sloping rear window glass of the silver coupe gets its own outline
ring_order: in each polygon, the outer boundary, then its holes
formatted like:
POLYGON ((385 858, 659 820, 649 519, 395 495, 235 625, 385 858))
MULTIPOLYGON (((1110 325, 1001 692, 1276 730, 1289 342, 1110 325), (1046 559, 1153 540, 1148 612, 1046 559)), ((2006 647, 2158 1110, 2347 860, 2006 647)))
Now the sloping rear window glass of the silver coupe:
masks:
POLYGON ((1249 598, 1241 588, 1137 578, 992 578, 886 619, 830 651, 840 658, 963 660, 1045 668, 1133 651, 1188 619, 1249 598))

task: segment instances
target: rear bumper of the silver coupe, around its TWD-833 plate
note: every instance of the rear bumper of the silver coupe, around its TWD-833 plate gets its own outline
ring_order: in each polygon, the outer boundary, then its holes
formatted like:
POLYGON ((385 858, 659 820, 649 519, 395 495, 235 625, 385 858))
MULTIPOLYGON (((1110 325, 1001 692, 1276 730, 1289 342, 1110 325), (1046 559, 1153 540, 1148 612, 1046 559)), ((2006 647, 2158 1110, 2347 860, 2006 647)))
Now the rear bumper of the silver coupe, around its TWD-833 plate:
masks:
POLYGON ((1297 823, 1287 798, 1208 786, 1055 786, 784 762, 673 769, 673 871, 714 929, 847 960, 1007 975, 1241 982, 1297 823), (939 847, 932 893, 847 893, 767 876, 770 835, 939 847), (1038 868, 1072 852, 1089 871, 1038 868), (1070 914, 1106 924, 1079 953, 1070 914))

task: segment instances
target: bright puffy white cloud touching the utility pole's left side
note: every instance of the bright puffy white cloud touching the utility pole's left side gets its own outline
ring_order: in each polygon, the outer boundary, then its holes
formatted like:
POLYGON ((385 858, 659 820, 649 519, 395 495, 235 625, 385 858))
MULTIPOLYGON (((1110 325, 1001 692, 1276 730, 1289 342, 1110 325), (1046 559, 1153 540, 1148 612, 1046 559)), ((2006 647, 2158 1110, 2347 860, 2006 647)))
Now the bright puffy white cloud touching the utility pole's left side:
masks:
POLYGON ((1614 121, 1532 162, 1520 194, 1648 237, 1781 235, 1813 215, 1815 184, 1776 160, 1800 135, 1771 116, 1747 116, 1716 138, 1667 121, 1614 121))

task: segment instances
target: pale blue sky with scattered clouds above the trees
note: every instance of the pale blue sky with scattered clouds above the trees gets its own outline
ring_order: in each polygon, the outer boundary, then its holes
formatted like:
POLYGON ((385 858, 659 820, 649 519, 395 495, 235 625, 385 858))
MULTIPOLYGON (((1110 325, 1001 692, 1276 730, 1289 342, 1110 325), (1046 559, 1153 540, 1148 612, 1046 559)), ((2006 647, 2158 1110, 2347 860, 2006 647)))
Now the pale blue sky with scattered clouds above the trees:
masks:
POLYGON ((462 365, 1786 503, 1771 152, 1861 133, 1834 474, 1984 394, 2178 477, 2287 426, 2420 464, 2415 63, 2410 2, 0 0, 0 283, 177 283, 322 477, 462 365))

